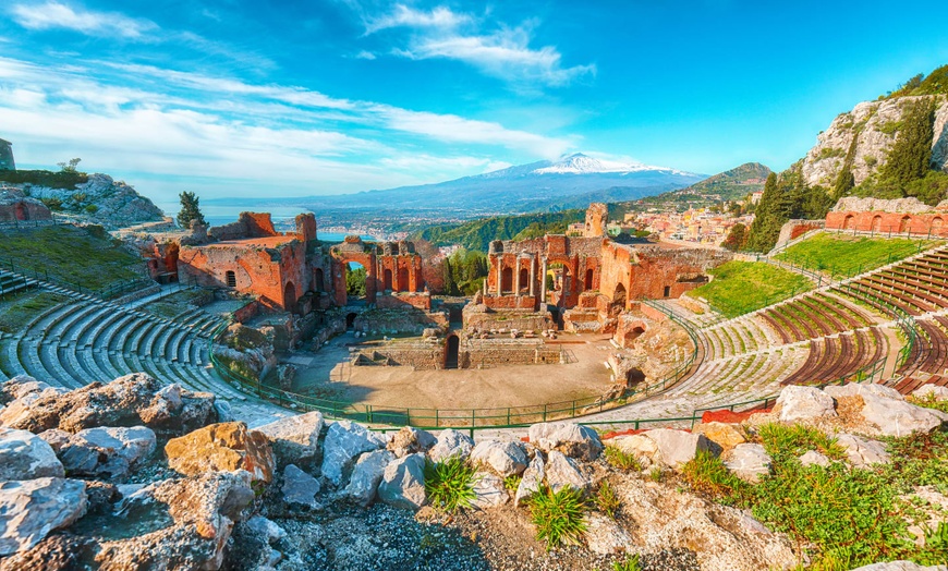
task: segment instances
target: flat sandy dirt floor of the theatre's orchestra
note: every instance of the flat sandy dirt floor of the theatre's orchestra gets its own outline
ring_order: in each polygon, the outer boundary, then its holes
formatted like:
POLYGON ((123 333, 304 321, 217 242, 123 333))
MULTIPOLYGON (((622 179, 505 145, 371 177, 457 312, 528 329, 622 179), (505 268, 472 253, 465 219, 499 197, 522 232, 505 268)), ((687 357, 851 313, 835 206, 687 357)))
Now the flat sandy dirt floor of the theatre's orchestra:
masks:
POLYGON ((575 362, 484 369, 415 370, 349 364, 352 333, 333 338, 317 353, 296 352, 294 390, 323 398, 413 409, 506 408, 598 396, 610 384, 607 336, 564 336, 575 362))

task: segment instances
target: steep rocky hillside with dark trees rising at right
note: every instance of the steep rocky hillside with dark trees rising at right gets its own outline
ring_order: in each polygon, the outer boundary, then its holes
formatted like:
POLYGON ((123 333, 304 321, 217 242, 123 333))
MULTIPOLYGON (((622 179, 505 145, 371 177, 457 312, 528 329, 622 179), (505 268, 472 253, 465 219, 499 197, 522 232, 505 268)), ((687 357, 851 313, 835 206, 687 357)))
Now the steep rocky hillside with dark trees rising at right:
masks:
POLYGON ((843 196, 948 197, 948 65, 840 113, 805 157, 768 178, 748 247, 770 250, 788 219, 818 219, 843 196))

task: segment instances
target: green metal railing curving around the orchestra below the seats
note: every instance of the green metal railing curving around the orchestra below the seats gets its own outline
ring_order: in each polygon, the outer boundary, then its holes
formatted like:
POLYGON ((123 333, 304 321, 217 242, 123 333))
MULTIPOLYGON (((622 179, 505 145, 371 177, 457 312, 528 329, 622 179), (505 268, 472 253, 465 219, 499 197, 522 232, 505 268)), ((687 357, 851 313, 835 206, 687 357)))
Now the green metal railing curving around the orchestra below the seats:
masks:
POLYGON ((231 385, 254 393, 263 400, 295 411, 319 411, 333 418, 347 418, 366 424, 424 428, 474 429, 528 426, 554 420, 575 418, 629 404, 639 398, 654 396, 671 388, 691 370, 697 359, 697 348, 701 342, 691 324, 682 320, 660 304, 647 300, 643 303, 666 314, 672 321, 680 325, 691 339, 693 350, 688 359, 660 380, 642 388, 627 389, 622 394, 613 398, 596 396, 544 404, 481 409, 422 409, 367 403, 358 404, 284 391, 232 370, 220 362, 220 359, 214 351, 215 343, 220 340, 224 330, 230 325, 229 323, 221 324, 211 335, 208 354, 215 370, 231 385))

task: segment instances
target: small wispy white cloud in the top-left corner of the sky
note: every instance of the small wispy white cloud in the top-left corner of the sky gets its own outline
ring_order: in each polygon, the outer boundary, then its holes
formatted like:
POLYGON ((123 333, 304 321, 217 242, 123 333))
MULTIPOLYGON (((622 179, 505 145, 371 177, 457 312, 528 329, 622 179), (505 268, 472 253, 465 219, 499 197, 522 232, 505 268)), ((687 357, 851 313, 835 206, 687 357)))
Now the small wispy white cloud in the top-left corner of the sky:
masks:
POLYGON ((44 4, 16 4, 10 9, 13 20, 28 29, 65 28, 89 36, 141 38, 158 26, 148 20, 135 20, 114 12, 73 9, 49 0, 44 4))

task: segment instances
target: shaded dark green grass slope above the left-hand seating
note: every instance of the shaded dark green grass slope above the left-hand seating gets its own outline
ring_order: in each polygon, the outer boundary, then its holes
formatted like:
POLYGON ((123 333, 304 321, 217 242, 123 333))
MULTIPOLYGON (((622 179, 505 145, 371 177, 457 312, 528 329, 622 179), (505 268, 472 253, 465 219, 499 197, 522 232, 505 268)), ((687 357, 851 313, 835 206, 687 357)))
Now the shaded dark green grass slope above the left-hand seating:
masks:
POLYGON ((144 270, 142 258, 108 234, 72 226, 0 232, 0 262, 93 291, 141 279, 144 270))

